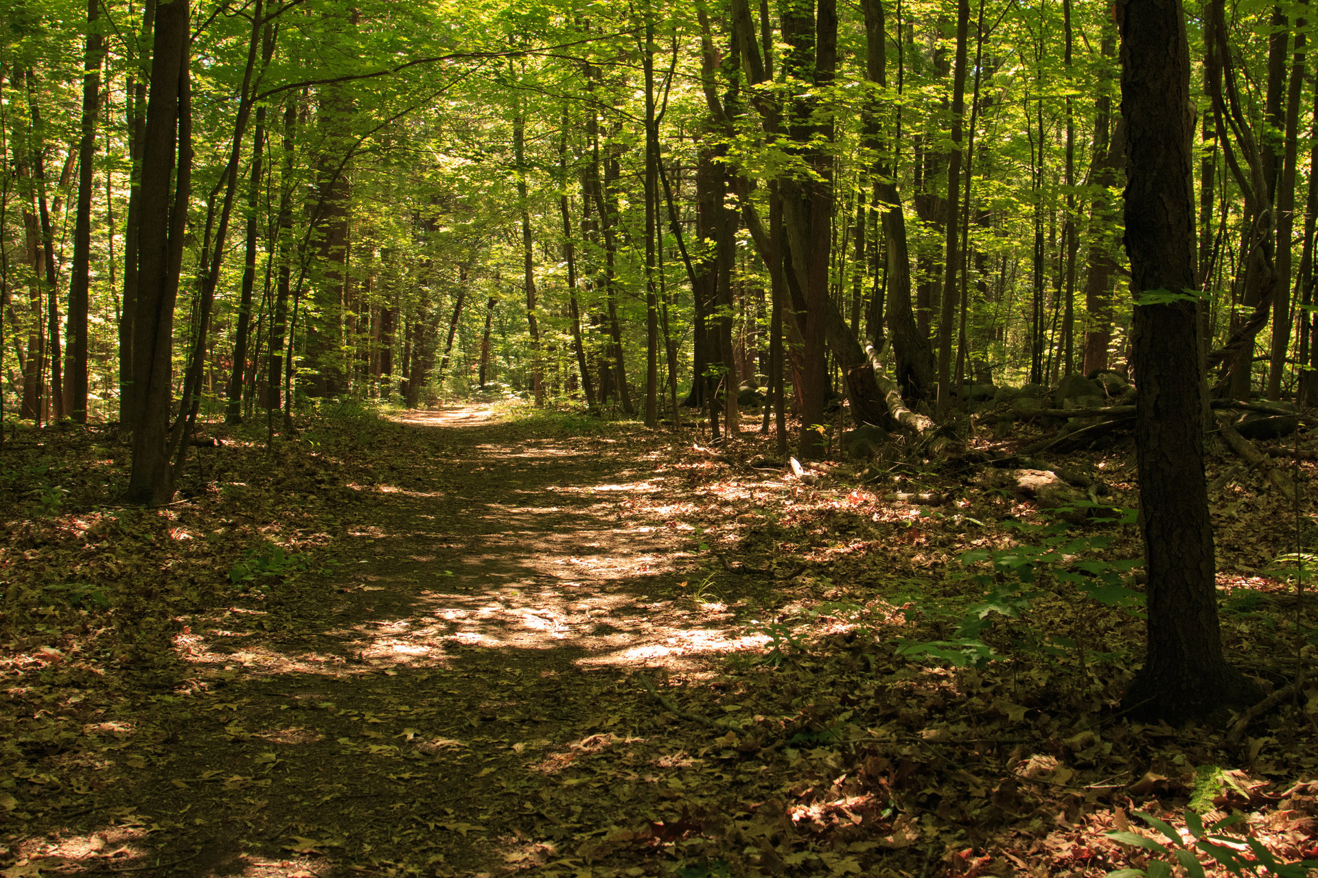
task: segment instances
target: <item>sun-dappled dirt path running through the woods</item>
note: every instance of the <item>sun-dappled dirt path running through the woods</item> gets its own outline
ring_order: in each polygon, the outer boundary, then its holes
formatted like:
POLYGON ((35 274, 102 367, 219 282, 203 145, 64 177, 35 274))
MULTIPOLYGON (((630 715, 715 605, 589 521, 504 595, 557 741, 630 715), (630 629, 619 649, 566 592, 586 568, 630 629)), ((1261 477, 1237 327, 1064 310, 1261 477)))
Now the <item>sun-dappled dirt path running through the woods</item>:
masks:
POLYGON ((588 862, 619 827, 679 819, 691 782, 691 758, 647 757, 663 711, 627 675, 699 673, 737 636, 670 599, 691 538, 629 513, 671 486, 626 442, 480 408, 407 424, 424 459, 349 486, 340 567, 179 637, 204 694, 162 698, 156 742, 124 754, 138 782, 107 842, 127 864, 659 874, 588 862))

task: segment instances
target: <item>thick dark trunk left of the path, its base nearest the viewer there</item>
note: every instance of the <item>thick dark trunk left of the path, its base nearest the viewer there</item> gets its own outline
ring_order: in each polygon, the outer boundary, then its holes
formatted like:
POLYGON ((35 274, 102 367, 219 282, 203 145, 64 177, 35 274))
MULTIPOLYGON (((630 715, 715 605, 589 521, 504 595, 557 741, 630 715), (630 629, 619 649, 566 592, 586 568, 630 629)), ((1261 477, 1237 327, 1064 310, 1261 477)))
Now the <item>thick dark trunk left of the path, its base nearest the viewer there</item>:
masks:
MULTIPOLYGON (((129 503, 163 504, 174 496, 169 449, 173 396, 174 300, 183 265, 192 180, 188 0, 159 3, 142 140, 141 211, 133 303, 129 411, 136 415, 129 503)), ((125 258, 133 258, 129 254, 125 258)))

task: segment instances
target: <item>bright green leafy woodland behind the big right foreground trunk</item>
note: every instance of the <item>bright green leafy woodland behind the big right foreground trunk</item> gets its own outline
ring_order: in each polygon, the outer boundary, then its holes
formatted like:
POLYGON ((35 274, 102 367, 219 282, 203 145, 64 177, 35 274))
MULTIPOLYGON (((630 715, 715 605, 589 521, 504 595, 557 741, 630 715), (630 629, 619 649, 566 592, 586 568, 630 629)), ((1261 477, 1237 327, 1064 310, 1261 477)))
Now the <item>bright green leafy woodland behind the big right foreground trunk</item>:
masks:
MULTIPOLYGON (((150 396, 177 466, 194 411, 423 404, 443 370, 651 423, 684 396, 734 438, 754 383, 808 455, 830 391, 888 419, 883 371, 950 416, 966 382, 1128 361, 1102 4, 11 7, 0 394, 28 420, 137 433, 150 396)), ((1219 392, 1318 398, 1306 16, 1215 0, 1188 43, 1219 392)))

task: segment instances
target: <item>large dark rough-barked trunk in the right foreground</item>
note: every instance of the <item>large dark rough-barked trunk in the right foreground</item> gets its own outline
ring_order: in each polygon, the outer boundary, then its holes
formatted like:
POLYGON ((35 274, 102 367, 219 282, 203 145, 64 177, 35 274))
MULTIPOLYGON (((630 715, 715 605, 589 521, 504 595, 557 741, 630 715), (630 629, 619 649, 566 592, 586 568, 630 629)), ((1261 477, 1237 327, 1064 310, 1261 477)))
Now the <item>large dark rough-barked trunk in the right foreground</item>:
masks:
POLYGON ((1116 12, 1127 121, 1126 251, 1135 294, 1135 448, 1148 569, 1148 653, 1124 706, 1136 716, 1180 721, 1243 706, 1257 692, 1227 663, 1218 627, 1203 475, 1185 16, 1181 0, 1123 0, 1116 12))

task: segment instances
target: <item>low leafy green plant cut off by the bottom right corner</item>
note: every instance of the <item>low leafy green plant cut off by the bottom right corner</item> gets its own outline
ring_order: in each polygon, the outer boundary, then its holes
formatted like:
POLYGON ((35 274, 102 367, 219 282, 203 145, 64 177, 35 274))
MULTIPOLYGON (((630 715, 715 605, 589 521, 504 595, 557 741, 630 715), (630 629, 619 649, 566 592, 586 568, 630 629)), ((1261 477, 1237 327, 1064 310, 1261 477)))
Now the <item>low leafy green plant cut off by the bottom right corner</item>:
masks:
POLYGON ((1107 837, 1123 845, 1148 850, 1161 858, 1151 860, 1144 869, 1110 871, 1106 878, 1170 878, 1177 866, 1184 869, 1190 878, 1205 878, 1203 864, 1199 862, 1199 857, 1205 854, 1232 875, 1268 874, 1281 878, 1305 878, 1313 869, 1318 869, 1318 860, 1282 862, 1248 832, 1243 835, 1228 832, 1244 820, 1243 813, 1234 813, 1230 817, 1205 824, 1198 813, 1188 810, 1185 828, 1190 841, 1186 841, 1168 823, 1152 815, 1136 811, 1135 816, 1161 833, 1168 840, 1166 844, 1135 832, 1108 832, 1107 837))

